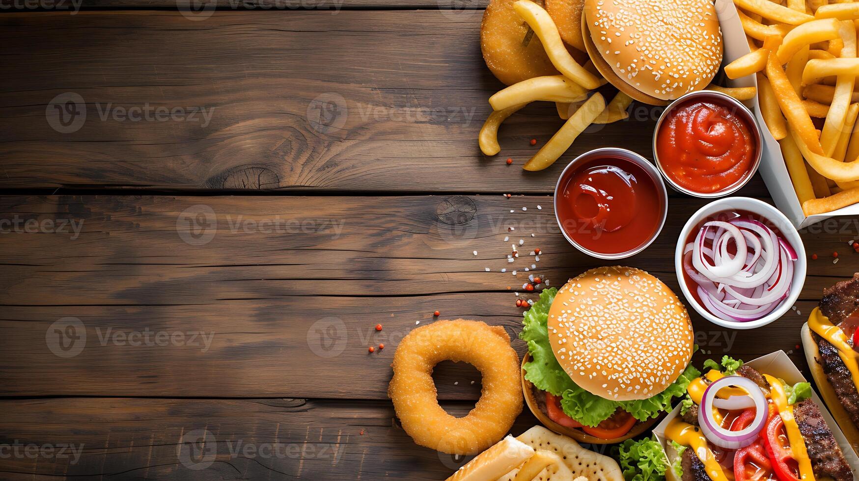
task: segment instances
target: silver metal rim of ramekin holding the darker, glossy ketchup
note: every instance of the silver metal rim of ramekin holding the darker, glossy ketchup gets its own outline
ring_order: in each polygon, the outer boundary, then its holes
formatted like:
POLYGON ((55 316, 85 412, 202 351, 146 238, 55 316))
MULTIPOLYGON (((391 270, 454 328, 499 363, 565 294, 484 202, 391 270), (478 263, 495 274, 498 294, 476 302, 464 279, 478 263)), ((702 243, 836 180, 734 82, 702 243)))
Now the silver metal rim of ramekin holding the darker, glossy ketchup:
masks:
POLYGON ((576 249, 582 251, 582 253, 586 253, 589 256, 595 257, 597 259, 606 259, 606 260, 625 259, 625 258, 634 256, 637 253, 642 252, 644 249, 649 247, 649 245, 652 244, 653 241, 655 241, 657 237, 659 237, 659 234, 662 232, 662 228, 665 227, 665 220, 667 219, 667 216, 668 216, 668 191, 667 191, 667 188, 665 187, 665 182, 662 181, 662 176, 660 175, 659 170, 657 170, 656 167, 652 163, 650 163, 647 159, 645 159, 643 156, 638 155, 631 150, 620 149, 618 147, 607 147, 604 149, 594 149, 594 150, 591 150, 589 152, 585 152, 584 154, 579 155, 578 157, 576 157, 575 159, 570 161, 570 163, 567 164, 567 167, 564 167, 564 171, 561 172, 561 176, 557 178, 557 184, 555 185, 555 197, 552 200, 552 204, 555 207, 555 221, 557 222, 557 227, 561 229, 561 233, 564 234, 564 238, 568 242, 570 242, 570 244, 572 244, 574 247, 576 247, 576 249), (650 239, 648 239, 647 241, 644 241, 640 246, 638 246, 638 247, 636 247, 630 251, 627 251, 625 253, 616 253, 616 254, 594 253, 594 251, 591 251, 590 249, 582 247, 582 245, 580 245, 578 242, 574 241, 572 239, 572 237, 570 237, 570 235, 567 234, 567 231, 564 230, 564 224, 561 222, 560 217, 557 216, 557 202, 558 202, 558 199, 561 198, 560 194, 561 194, 561 189, 563 188, 561 183, 564 180, 566 180, 567 171, 570 169, 576 169, 576 167, 582 165, 583 163, 585 163, 587 161, 591 161, 591 160, 594 160, 596 158, 606 157, 606 156, 620 157, 626 161, 631 161, 632 163, 636 164, 639 167, 642 167, 644 169, 644 172, 648 173, 650 178, 653 179, 653 183, 656 186, 656 195, 661 195, 661 197, 662 197, 662 215, 661 215, 661 222, 659 224, 659 227, 656 228, 653 236, 650 237, 650 239))

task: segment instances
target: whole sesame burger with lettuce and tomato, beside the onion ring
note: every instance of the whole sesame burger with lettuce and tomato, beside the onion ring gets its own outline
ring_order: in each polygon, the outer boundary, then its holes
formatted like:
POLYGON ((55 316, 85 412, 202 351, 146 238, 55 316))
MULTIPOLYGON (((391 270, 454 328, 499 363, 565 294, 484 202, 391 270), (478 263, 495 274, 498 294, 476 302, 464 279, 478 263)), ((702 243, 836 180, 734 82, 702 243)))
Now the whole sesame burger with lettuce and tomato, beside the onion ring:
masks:
POLYGON ((528 406, 579 441, 610 443, 648 429, 698 369, 689 314, 647 272, 601 267, 545 289, 520 337, 528 406))

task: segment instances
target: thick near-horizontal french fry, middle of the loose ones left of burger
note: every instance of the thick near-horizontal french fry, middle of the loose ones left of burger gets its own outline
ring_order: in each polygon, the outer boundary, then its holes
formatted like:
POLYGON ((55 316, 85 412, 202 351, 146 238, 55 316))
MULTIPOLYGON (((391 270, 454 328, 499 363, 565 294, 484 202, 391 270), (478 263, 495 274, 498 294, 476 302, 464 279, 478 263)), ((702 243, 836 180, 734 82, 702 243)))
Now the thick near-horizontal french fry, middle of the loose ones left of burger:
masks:
POLYGON ((493 110, 504 110, 534 100, 576 102, 587 96, 587 90, 565 76, 535 76, 493 94, 489 103, 493 110))

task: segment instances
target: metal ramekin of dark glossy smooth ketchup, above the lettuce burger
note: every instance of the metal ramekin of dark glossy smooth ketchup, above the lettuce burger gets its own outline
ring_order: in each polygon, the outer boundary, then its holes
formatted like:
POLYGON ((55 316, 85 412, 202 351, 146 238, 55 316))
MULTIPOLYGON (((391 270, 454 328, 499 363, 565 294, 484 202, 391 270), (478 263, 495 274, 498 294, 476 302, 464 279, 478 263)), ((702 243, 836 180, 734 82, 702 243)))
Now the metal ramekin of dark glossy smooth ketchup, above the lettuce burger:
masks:
POLYGON ((631 150, 579 155, 555 186, 555 218, 567 241, 599 259, 642 252, 662 230, 668 193, 656 167, 631 150))

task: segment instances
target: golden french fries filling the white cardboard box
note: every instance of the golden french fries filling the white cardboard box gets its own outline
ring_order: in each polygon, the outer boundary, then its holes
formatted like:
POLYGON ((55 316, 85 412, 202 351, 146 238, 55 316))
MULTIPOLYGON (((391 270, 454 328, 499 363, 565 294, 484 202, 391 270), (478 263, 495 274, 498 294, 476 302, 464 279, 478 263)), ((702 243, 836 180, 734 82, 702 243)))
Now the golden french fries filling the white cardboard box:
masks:
POLYGON ((757 76, 762 117, 813 216, 859 202, 859 3, 784 1, 734 0, 752 52, 725 74, 757 76))

